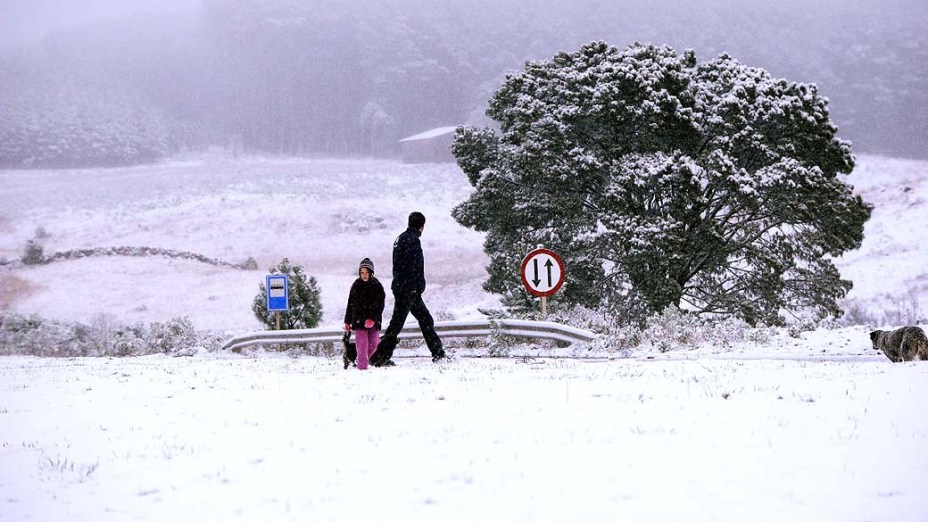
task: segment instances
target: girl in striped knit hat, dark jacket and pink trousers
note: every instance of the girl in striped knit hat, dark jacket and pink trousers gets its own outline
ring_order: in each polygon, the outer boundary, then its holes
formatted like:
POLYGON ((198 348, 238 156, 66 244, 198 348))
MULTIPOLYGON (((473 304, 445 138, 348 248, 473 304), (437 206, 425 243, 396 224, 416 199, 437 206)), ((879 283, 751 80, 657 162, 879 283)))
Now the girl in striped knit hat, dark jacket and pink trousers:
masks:
POLYGON ((358 278, 351 285, 345 307, 345 331, 354 330, 359 370, 367 369, 371 355, 377 351, 383 302, 383 285, 374 277, 373 261, 365 257, 358 267, 358 278))

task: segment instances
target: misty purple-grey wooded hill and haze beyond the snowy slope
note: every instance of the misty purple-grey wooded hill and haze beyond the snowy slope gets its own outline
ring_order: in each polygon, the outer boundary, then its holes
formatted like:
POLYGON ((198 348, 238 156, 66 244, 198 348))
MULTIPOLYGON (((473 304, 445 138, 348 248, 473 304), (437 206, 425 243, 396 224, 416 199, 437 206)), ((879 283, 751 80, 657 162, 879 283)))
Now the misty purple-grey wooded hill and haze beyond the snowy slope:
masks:
POLYGON ((831 103, 858 153, 928 158, 919 0, 0 2, 0 167, 149 162, 184 149, 394 157, 486 124, 525 60, 590 40, 729 52, 831 103))

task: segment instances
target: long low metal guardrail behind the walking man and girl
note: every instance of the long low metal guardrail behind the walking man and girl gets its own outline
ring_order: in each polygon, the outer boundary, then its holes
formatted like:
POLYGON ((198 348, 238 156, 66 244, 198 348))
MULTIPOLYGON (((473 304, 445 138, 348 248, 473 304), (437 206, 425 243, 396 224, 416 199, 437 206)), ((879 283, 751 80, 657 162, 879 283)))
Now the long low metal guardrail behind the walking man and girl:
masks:
MULTIPOLYGON (((590 342, 598 337, 588 330, 547 321, 521 321, 516 319, 479 321, 438 321, 435 331, 442 337, 487 337, 493 334, 529 339, 548 339, 566 343, 590 342)), ((223 350, 240 352, 257 345, 341 342, 344 330, 337 326, 301 330, 268 330, 233 337, 223 350)), ((398 335, 400 340, 422 338, 415 324, 407 324, 398 335)))

